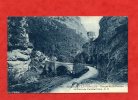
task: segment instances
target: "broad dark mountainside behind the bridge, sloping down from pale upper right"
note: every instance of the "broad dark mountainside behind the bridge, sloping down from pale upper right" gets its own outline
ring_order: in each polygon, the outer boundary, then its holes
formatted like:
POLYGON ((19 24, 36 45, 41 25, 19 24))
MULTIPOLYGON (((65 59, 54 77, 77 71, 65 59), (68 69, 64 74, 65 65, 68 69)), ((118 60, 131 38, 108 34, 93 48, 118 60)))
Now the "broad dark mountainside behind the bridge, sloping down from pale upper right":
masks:
POLYGON ((66 62, 73 61, 88 39, 79 17, 30 17, 28 26, 35 49, 66 62))

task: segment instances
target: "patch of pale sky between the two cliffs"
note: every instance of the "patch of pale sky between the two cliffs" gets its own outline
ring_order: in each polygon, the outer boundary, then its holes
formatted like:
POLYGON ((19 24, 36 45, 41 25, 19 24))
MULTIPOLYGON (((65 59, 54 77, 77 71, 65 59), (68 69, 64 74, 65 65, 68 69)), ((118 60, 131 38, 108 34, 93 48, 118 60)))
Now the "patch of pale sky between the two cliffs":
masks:
POLYGON ((96 37, 99 35, 99 21, 102 16, 80 16, 81 23, 87 31, 93 31, 96 37))

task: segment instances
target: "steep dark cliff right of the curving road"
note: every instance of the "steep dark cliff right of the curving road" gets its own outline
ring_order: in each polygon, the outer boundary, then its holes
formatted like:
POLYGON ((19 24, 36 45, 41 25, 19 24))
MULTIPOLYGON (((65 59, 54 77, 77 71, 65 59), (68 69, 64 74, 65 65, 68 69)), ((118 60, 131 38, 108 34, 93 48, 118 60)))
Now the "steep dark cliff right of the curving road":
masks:
POLYGON ((85 44, 88 61, 97 66, 99 78, 105 81, 127 81, 128 18, 103 17, 99 37, 85 44))

